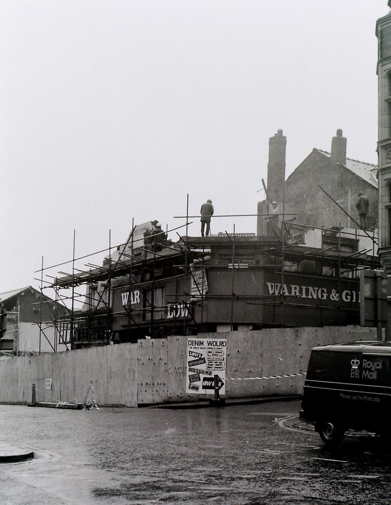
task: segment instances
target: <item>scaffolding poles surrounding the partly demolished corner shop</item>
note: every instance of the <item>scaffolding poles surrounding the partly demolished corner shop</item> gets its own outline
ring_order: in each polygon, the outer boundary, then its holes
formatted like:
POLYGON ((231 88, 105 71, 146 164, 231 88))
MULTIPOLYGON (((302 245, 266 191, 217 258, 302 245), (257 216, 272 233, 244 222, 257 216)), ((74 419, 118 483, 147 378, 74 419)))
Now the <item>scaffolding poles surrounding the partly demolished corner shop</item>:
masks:
MULTIPOLYGON (((321 188, 322 189, 322 188, 321 188)), ((324 190, 323 190, 324 191, 324 190)), ((326 193, 327 194, 327 193, 326 193)), ((330 196, 330 195, 328 195, 330 196)), ((330 196, 332 199, 332 197, 330 196)), ((342 209, 343 210, 343 209, 342 209)), ((354 252, 353 254, 349 256, 342 256, 342 251, 341 251, 341 238, 342 238, 342 231, 341 227, 338 227, 338 230, 336 229, 327 229, 327 228, 320 228, 320 227, 315 227, 315 226, 308 226, 308 225, 301 225, 294 223, 292 225, 292 220, 286 222, 287 216, 296 216, 297 213, 286 213, 285 212, 285 185, 283 186, 283 208, 282 208, 282 213, 279 214, 279 216, 282 216, 282 223, 281 223, 281 237, 279 237, 279 243, 276 243, 276 245, 268 245, 263 250, 265 252, 269 251, 273 254, 274 251, 274 256, 275 256, 275 263, 273 264, 274 271, 277 275, 281 276, 281 286, 284 286, 285 282, 285 273, 286 273, 286 268, 285 268, 285 262, 293 262, 298 263, 300 259, 303 258, 308 258, 308 259, 313 259, 313 260, 318 260, 322 263, 322 266, 326 265, 330 266, 330 268, 334 268, 337 270, 337 279, 338 279, 338 288, 340 291, 341 287, 341 275, 342 275, 342 270, 343 273, 345 274, 346 272, 352 271, 353 273, 356 272, 359 268, 372 268, 374 269, 376 267, 375 264, 375 258, 374 258, 374 252, 375 252, 375 232, 373 231, 371 235, 366 231, 362 230, 363 233, 358 233, 357 230, 355 233, 351 232, 343 232, 343 236, 354 236, 356 239, 360 236, 365 236, 369 237, 372 240, 372 259, 371 261, 365 257, 366 252, 369 252, 370 249, 363 249, 358 252, 354 252), (319 251, 312 251, 312 250, 302 250, 300 251, 298 249, 298 246, 295 247, 295 244, 301 241, 301 239, 295 240, 294 242, 289 242, 289 237, 287 237, 287 230, 289 231, 290 228, 294 226, 294 228, 302 228, 302 229, 320 229, 322 230, 322 236, 326 234, 327 232, 330 232, 332 236, 335 236, 335 239, 337 240, 336 244, 331 245, 330 247, 323 247, 319 251), (332 250, 337 248, 335 251, 335 254, 332 253, 332 250), (288 260, 287 260, 288 258, 288 260), (281 271, 279 269, 281 268, 281 271)), ((264 217, 270 217, 272 214, 236 214, 236 215, 216 215, 213 216, 213 218, 220 218, 220 217, 249 217, 249 216, 264 216, 264 217)), ((274 214, 273 214, 274 216, 274 214)), ((189 194, 187 194, 187 199, 186 199, 186 216, 174 216, 175 218, 186 218, 186 223, 182 226, 172 228, 171 230, 166 230, 168 231, 174 231, 174 230, 179 230, 180 228, 186 227, 186 241, 184 238, 177 232, 178 236, 180 237, 180 241, 183 243, 182 245, 176 245, 176 247, 170 247, 167 245, 167 249, 171 249, 173 251, 178 251, 178 257, 182 258, 182 262, 179 261, 177 262, 178 264, 173 264, 171 261, 170 265, 175 268, 184 268, 184 271, 180 273, 177 277, 177 280, 175 281, 175 294, 167 294, 165 293, 165 296, 174 296, 175 300, 179 301, 180 298, 182 298, 183 303, 187 310, 191 311, 190 316, 194 323, 198 326, 201 331, 204 330, 204 306, 205 306, 205 300, 210 297, 212 298, 212 295, 205 294, 205 276, 206 272, 209 267, 213 267, 218 265, 219 263, 212 263, 211 260, 209 259, 209 262, 206 263, 205 255, 205 242, 201 244, 189 244, 189 225, 192 223, 189 221, 191 218, 195 217, 200 217, 200 216, 190 216, 189 215, 189 194), (201 250, 202 249, 202 252, 201 250), (202 260, 202 263, 195 264, 193 263, 194 258, 199 258, 202 260), (179 263, 182 263, 181 265, 179 263), (199 289, 199 277, 197 277, 198 280, 196 280, 193 276, 193 271, 191 270, 193 267, 195 268, 201 268, 201 273, 202 273, 202 279, 200 282, 200 287, 201 291, 199 289), (190 276, 189 276, 190 273, 190 276), (197 294, 197 302, 195 302, 195 297, 192 296, 192 290, 191 286, 190 288, 188 287, 189 283, 189 278, 190 282, 191 279, 193 279, 194 284, 196 285, 198 289, 197 294), (190 300, 192 300, 194 303, 192 303, 192 307, 190 308, 190 300), (188 307, 189 305, 189 307, 188 307), (198 309, 199 310, 198 310, 198 309), (193 310, 197 310, 197 316, 195 316, 193 310), (195 317, 198 319, 198 322, 195 320, 195 317)), ((353 220, 353 218, 352 218, 353 220)), ((354 220, 353 220, 354 221, 354 220)), ((127 327, 127 337, 129 339, 132 338, 132 331, 133 329, 139 331, 141 326, 137 324, 134 314, 142 314, 142 327, 148 327, 148 313, 150 314, 150 322, 149 322, 149 328, 150 328, 150 333, 151 337, 155 336, 155 333, 157 331, 157 325, 156 321, 157 319, 160 319, 160 312, 163 310, 165 307, 165 304, 163 305, 160 302, 157 302, 156 299, 156 269, 157 266, 160 264, 160 262, 164 262, 165 258, 171 259, 175 258, 175 255, 164 255, 160 254, 156 250, 156 241, 153 241, 153 247, 148 249, 144 247, 144 239, 143 238, 137 238, 135 239, 134 237, 134 232, 135 232, 136 226, 134 225, 134 219, 132 220, 132 233, 130 234, 128 240, 124 244, 120 244, 117 247, 117 250, 119 251, 118 256, 114 257, 116 259, 113 259, 113 246, 111 243, 111 230, 109 230, 109 247, 106 249, 102 249, 97 252, 93 252, 89 255, 81 256, 76 258, 75 256, 75 230, 73 231, 73 254, 72 254, 72 260, 59 263, 56 265, 53 265, 51 267, 45 267, 44 268, 44 257, 42 256, 42 262, 41 262, 41 269, 37 270, 36 272, 40 272, 40 284, 41 284, 41 299, 40 299, 40 324, 39 324, 39 352, 41 352, 41 335, 43 332, 43 327, 42 327, 42 306, 44 304, 43 301, 43 290, 47 288, 53 288, 55 289, 55 311, 54 311, 54 320, 53 324, 55 327, 55 351, 58 350, 58 344, 64 343, 67 346, 68 342, 68 331, 70 332, 69 334, 69 342, 71 348, 75 348, 75 340, 76 340, 76 334, 77 334, 77 344, 78 345, 83 345, 86 340, 86 345, 89 347, 93 344, 93 340, 95 342, 102 341, 105 344, 108 344, 110 340, 112 339, 112 325, 111 322, 113 321, 113 316, 118 315, 118 314, 123 314, 123 316, 127 316, 127 324, 124 323, 124 330, 126 330, 127 327), (141 241, 140 246, 136 245, 136 253, 135 253, 135 243, 141 241), (126 250, 128 248, 128 244, 131 242, 130 246, 130 253, 126 250), (137 251, 143 251, 144 258, 137 256, 137 251), (89 263, 87 266, 89 267, 89 271, 85 270, 80 270, 79 268, 76 268, 76 262, 80 260, 84 260, 86 258, 92 258, 96 256, 97 254, 101 254, 102 252, 108 252, 108 258, 106 258, 106 262, 108 261, 108 268, 106 266, 99 266, 94 260, 91 260, 91 263, 89 263), (130 261, 129 261, 130 260, 130 261), (67 265, 71 263, 72 268, 69 269, 71 270, 71 273, 65 273, 65 272, 59 272, 63 275, 65 275, 65 279, 59 279, 58 277, 50 276, 46 274, 48 277, 51 277, 54 279, 54 282, 50 283, 49 281, 44 281, 43 275, 44 272, 48 271, 51 268, 56 268, 56 267, 61 267, 63 265, 67 265), (146 268, 149 269, 151 278, 149 281, 143 282, 142 279, 136 279, 135 278, 135 269, 136 271, 142 272, 142 268, 145 266, 146 268), (125 309, 122 312, 116 311, 114 313, 114 307, 113 305, 113 279, 123 276, 123 275, 128 275, 128 282, 127 282, 127 287, 129 290, 129 298, 128 298, 128 308, 127 310, 125 309), (44 286, 44 282, 47 283, 47 286, 44 286), (98 283, 98 291, 95 292, 95 284, 98 283), (101 283, 101 285, 99 285, 101 283), (86 289, 88 289, 88 293, 82 294, 79 292, 76 292, 76 286, 77 285, 83 285, 85 286, 86 289), (143 300, 144 300, 144 306, 140 309, 133 309, 132 307, 132 291, 134 289, 134 285, 137 285, 138 288, 140 288, 140 291, 143 293, 143 300), (149 287, 146 287, 149 286, 149 287), (65 294, 62 294, 61 290, 65 289, 67 292, 65 294), (69 295, 69 289, 71 290, 71 294, 69 295), (146 290, 150 289, 150 295, 151 299, 147 299, 147 294, 146 290), (106 294, 107 293, 107 294, 106 294), (77 301, 84 300, 86 304, 86 312, 84 312, 81 316, 76 316, 75 314, 75 304, 77 301), (69 309, 69 302, 71 308, 69 309), (60 316, 59 315, 59 308, 60 308, 60 303, 66 307, 66 309, 69 312, 68 316, 60 316), (133 329, 132 329, 133 328, 133 329), (82 336, 81 336, 82 335, 82 336)), ((155 237, 156 235, 159 235, 164 232, 159 232, 157 234, 152 234, 151 237, 155 237)), ((231 298, 231 316, 230 316, 230 322, 231 322, 231 330, 234 329, 235 327, 235 298, 246 298, 245 295, 235 295, 235 276, 236 276, 236 268, 237 266, 240 266, 240 259, 237 260, 237 251, 236 251, 236 241, 237 237, 240 236, 240 234, 236 233, 236 225, 233 225, 233 234, 232 236, 225 232, 226 235, 228 236, 229 240, 232 242, 232 277, 231 277, 231 293, 229 297, 231 298), (236 263, 238 262, 238 265, 236 263)), ((207 243, 207 242, 206 242, 207 243)), ((211 241, 213 243, 213 240, 211 241)), ((227 242, 226 242, 227 243, 227 242)), ((239 243, 239 242, 238 242, 239 243)), ((238 257, 239 258, 239 257, 238 257)), ((90 261, 90 260, 89 260, 90 261)), ((229 257, 228 257, 229 261, 229 257)), ((104 264, 105 265, 105 264, 104 264)), ((162 263, 164 266, 164 263, 162 263)), ((77 265, 79 266, 79 265, 77 265)), ((228 268, 230 268, 230 265, 227 265, 228 268)), ((255 268, 258 268, 254 265, 255 268)), ((259 265, 259 268, 270 268, 269 264, 261 264, 259 265)), ((335 274, 334 274, 335 275, 335 274)), ((126 281, 125 281, 126 282, 126 281)), ((79 290, 78 290, 79 291, 79 290)), ((149 296, 149 293, 148 293, 149 296)), ((251 295, 249 297, 252 298, 258 298, 262 297, 263 295, 251 295)), ((224 295, 221 297, 225 297, 224 295)), ((270 298, 270 297, 269 297, 270 298)), ((282 327, 285 325, 285 313, 284 313, 284 307, 285 306, 292 306, 292 304, 289 303, 289 297, 286 295, 284 289, 281 289, 280 293, 280 299, 279 301, 276 300, 271 300, 270 304, 272 304, 275 308, 280 307, 280 321, 279 325, 282 327)), ((165 301, 165 300, 163 300, 165 301)), ((269 302, 268 302, 269 304, 269 302)), ((264 304, 265 305, 265 304, 264 304)), ((322 307, 319 307, 321 311, 321 318, 322 318, 322 307)), ((340 310, 341 307, 337 308, 338 311, 338 319, 340 318, 340 310)), ((278 312, 278 311, 277 311, 278 312)), ((278 315, 275 314, 274 316, 274 321, 278 318, 278 315)), ((137 318, 136 318, 137 319, 137 318)), ((175 328, 175 331, 178 329, 179 330, 179 325, 181 324, 180 320, 177 321, 177 318, 173 320, 173 326, 175 328), (177 328, 178 325, 178 328, 177 328)), ((183 334, 186 335, 188 331, 190 330, 190 320, 189 320, 189 325, 187 321, 187 316, 184 314, 183 316, 183 334)), ((271 323, 268 323, 271 324, 271 323)))

